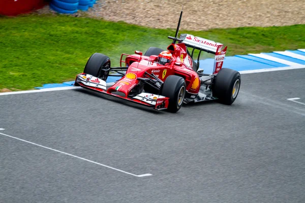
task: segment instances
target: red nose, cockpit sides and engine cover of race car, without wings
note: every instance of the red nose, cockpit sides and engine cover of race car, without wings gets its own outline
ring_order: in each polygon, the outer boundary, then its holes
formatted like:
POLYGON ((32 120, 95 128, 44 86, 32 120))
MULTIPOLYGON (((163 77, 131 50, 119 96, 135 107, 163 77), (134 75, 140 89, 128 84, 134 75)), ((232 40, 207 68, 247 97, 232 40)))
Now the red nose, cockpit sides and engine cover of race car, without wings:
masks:
POLYGON ((181 76, 186 81, 187 91, 198 94, 200 80, 197 73, 192 69, 193 63, 186 51, 186 45, 184 43, 171 44, 167 49, 172 54, 172 62, 167 65, 159 64, 157 62, 157 55, 141 56, 138 54, 122 54, 122 56, 127 55, 127 57, 124 61, 121 60, 121 62, 125 62, 126 66, 129 66, 129 69, 126 72, 126 76, 110 87, 107 92, 120 91, 128 95, 130 90, 139 83, 136 78, 142 78, 144 73, 147 72, 149 74, 154 73, 163 82, 169 75, 181 76), (185 59, 188 60, 189 66, 184 62, 185 59), (116 88, 118 87, 119 89, 117 90, 116 88))

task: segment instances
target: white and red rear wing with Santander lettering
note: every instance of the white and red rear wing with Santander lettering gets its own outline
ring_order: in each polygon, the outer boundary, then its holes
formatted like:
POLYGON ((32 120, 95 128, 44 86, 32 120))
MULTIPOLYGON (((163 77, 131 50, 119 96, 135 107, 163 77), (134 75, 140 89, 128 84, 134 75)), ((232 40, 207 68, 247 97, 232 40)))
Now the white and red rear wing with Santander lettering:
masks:
POLYGON ((194 50, 200 50, 197 60, 198 67, 200 53, 201 51, 204 51, 207 53, 215 54, 213 74, 217 74, 221 70, 227 52, 227 46, 222 50, 224 45, 219 42, 214 42, 200 37, 194 37, 193 35, 189 34, 180 34, 179 42, 184 43, 187 47, 193 48, 191 54, 192 58, 194 50))

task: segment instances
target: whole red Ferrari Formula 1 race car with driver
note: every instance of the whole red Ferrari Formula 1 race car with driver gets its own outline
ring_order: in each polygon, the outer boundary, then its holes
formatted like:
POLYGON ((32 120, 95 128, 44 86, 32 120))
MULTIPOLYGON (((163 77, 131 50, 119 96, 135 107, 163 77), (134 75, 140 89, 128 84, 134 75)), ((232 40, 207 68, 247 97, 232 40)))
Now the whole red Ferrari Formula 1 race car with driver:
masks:
POLYGON ((111 67, 108 56, 94 53, 83 73, 76 76, 74 86, 173 113, 179 111, 182 104, 199 101, 218 100, 231 105, 239 92, 241 78, 237 71, 222 68, 227 47, 222 49, 221 43, 189 34, 180 34, 177 38, 181 16, 182 11, 175 37, 168 37, 173 42, 167 50, 150 47, 144 55, 140 51, 123 53, 119 67, 111 67), (188 48, 193 48, 192 53, 188 48), (193 59, 194 50, 199 50, 197 62, 193 59), (212 74, 204 74, 199 69, 202 51, 215 54, 212 74), (106 80, 113 76, 121 78, 107 89, 106 80))

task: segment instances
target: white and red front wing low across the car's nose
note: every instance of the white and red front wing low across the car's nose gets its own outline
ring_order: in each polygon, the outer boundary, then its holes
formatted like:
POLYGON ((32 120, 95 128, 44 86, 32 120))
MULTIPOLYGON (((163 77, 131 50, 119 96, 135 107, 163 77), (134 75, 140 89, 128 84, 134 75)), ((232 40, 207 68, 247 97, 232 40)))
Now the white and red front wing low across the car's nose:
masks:
POLYGON ((107 92, 106 81, 103 81, 102 79, 89 74, 77 75, 74 86, 81 86, 86 89, 95 90, 110 96, 133 101, 134 103, 144 105, 146 107, 152 107, 157 110, 164 110, 168 108, 168 97, 145 92, 142 92, 133 97, 124 97, 121 95, 113 94, 111 92, 107 92))

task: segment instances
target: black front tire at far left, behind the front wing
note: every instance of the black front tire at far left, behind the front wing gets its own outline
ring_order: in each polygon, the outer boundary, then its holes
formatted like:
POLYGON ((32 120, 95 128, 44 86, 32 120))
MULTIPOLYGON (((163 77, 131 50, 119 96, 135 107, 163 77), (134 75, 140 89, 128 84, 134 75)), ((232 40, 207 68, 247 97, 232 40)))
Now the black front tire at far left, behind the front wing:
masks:
POLYGON ((84 73, 93 75, 94 77, 101 78, 106 81, 109 75, 109 71, 102 71, 101 67, 110 67, 110 58, 101 53, 94 53, 88 59, 84 68, 84 73))

